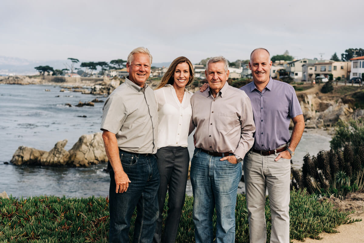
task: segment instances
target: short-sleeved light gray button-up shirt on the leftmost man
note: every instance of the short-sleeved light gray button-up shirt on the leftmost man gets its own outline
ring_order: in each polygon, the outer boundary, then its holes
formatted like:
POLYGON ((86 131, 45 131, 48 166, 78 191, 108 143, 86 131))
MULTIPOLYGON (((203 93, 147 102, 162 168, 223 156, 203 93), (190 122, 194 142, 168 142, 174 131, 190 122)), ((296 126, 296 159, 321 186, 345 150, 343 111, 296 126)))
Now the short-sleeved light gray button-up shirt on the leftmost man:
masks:
POLYGON ((156 153, 158 112, 154 91, 131 82, 117 87, 106 99, 101 130, 115 133, 120 149, 133 153, 156 153))

